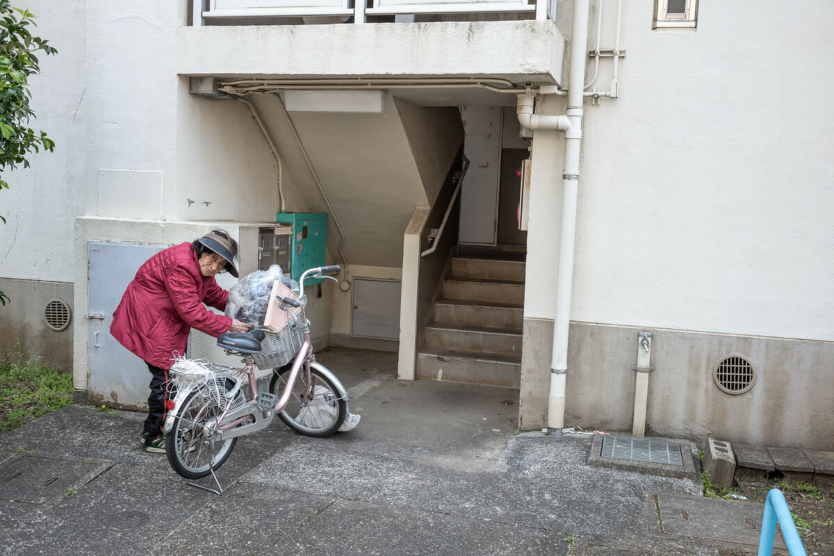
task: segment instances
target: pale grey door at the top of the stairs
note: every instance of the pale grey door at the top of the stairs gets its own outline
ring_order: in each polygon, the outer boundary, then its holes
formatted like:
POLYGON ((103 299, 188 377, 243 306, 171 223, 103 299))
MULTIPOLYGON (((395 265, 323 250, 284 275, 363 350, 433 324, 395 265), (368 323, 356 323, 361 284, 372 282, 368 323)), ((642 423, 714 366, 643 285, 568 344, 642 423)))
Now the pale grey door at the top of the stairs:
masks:
POLYGON ((460 189, 458 243, 495 245, 498 224, 498 186, 501 165, 501 108, 465 106, 464 152, 470 159, 460 189))

